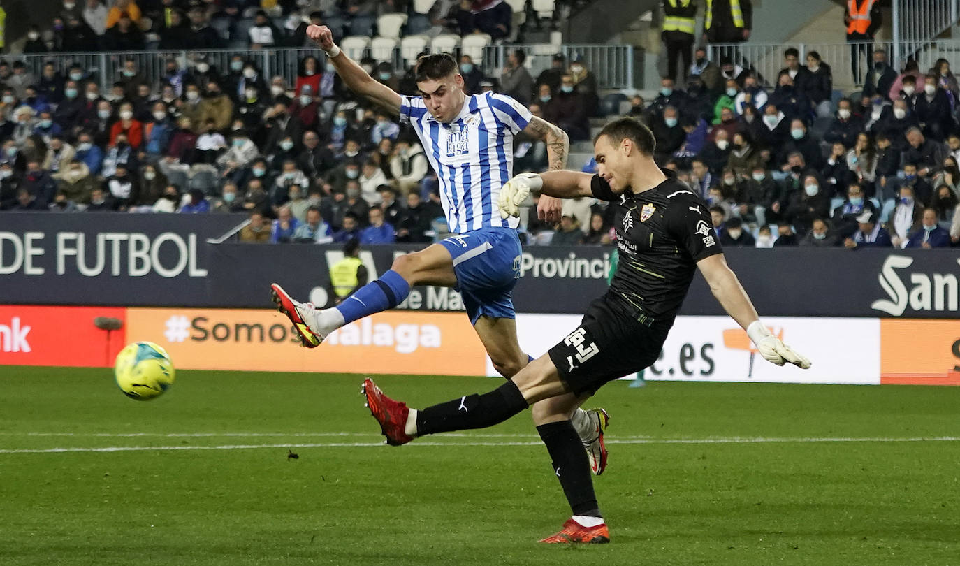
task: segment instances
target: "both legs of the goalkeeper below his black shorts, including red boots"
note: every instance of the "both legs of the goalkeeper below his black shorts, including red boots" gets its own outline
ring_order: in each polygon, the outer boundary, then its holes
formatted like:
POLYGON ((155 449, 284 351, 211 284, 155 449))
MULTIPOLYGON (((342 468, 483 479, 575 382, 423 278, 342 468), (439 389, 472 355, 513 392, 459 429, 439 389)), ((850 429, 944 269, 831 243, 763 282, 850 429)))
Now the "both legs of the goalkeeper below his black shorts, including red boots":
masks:
MULTIPOLYGON (((405 444, 416 436, 490 427, 529 405, 551 398, 560 400, 556 406, 544 406, 548 413, 571 411, 577 402, 573 397, 570 403, 571 397, 557 367, 547 355, 534 360, 491 392, 464 395, 422 411, 410 410, 387 397, 369 378, 364 382, 364 393, 387 442, 394 445, 405 444)), ((610 532, 593 492, 587 455, 580 450, 580 437, 569 419, 547 422, 538 427, 538 432, 553 459, 554 471, 573 513, 564 523, 563 531, 541 542, 609 542, 610 532)))

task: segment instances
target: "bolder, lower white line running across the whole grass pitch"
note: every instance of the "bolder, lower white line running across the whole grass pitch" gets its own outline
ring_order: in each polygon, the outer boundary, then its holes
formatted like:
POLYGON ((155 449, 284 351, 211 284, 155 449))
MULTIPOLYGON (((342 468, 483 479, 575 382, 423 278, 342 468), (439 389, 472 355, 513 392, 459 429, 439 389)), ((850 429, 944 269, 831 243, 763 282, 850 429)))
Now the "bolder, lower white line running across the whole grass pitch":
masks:
MULTIPOLYGON (((449 435, 446 435, 449 436, 449 435)), ((791 442, 956 442, 960 436, 916 436, 906 438, 854 438, 854 437, 805 437, 805 438, 610 438, 611 444, 764 444, 791 442)), ((540 441, 516 442, 414 442, 411 446, 537 446, 540 441)), ((95 448, 14 448, 0 449, 0 454, 62 454, 70 452, 144 452, 149 450, 252 450, 256 448, 363 448, 383 446, 383 442, 319 442, 281 444, 223 444, 219 446, 103 446, 95 448)))

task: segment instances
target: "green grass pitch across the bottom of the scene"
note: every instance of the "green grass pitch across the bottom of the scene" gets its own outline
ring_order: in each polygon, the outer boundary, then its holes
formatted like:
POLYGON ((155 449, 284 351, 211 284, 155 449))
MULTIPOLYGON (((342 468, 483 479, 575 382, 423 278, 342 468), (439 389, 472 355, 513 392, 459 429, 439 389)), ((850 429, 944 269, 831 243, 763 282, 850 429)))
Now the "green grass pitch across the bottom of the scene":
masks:
POLYGON ((361 379, 0 368, 0 564, 960 564, 960 389, 610 384, 612 544, 568 548, 528 414, 392 448, 361 379))

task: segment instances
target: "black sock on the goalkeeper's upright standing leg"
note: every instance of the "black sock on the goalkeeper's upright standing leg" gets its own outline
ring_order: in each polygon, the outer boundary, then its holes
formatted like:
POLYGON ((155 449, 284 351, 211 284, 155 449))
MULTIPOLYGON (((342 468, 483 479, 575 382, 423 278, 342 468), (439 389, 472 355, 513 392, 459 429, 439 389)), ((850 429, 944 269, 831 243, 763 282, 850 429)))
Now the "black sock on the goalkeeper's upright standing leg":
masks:
POLYGON ((574 515, 602 517, 590 479, 590 460, 584 443, 568 420, 537 427, 546 451, 553 460, 553 471, 564 488, 566 501, 574 515))

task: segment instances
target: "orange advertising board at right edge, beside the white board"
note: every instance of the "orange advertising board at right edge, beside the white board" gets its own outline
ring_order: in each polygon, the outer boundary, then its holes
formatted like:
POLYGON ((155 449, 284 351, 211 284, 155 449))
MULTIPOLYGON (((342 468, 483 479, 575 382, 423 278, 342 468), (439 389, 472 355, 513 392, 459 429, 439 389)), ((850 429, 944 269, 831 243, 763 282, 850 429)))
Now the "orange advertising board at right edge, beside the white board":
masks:
POLYGON ((881 319, 880 383, 960 386, 960 320, 881 319))

